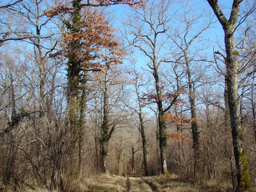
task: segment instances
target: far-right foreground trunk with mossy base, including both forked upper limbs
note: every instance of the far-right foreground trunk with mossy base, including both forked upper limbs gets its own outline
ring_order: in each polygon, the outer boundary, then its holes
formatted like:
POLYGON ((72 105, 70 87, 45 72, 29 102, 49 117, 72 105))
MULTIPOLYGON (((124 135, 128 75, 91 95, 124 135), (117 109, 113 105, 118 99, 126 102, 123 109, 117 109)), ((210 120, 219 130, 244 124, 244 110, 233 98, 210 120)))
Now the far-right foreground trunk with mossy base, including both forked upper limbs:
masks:
POLYGON ((251 190, 250 174, 246 159, 246 152, 243 144, 243 127, 241 126, 240 114, 240 98, 238 94, 238 63, 237 56, 239 52, 236 51, 234 32, 236 30, 236 23, 240 10, 240 0, 233 0, 231 15, 229 20, 225 18, 217 1, 207 0, 213 8, 215 15, 223 26, 225 33, 225 47, 226 47, 226 82, 228 93, 228 107, 231 124, 231 133, 233 139, 233 150, 237 170, 237 190, 246 191, 251 190))

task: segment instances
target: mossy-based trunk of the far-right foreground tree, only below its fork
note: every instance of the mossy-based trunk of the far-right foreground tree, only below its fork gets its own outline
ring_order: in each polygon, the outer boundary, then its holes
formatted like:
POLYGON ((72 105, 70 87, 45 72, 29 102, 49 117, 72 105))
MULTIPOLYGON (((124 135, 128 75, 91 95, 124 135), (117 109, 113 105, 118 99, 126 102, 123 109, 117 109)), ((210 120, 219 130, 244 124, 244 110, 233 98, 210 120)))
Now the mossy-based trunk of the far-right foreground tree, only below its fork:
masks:
POLYGON ((233 139, 234 157, 237 170, 237 189, 251 189, 246 152, 243 144, 243 127, 241 126, 240 99, 238 94, 238 63, 234 35, 225 32, 227 54, 227 90, 230 113, 231 133, 233 139))

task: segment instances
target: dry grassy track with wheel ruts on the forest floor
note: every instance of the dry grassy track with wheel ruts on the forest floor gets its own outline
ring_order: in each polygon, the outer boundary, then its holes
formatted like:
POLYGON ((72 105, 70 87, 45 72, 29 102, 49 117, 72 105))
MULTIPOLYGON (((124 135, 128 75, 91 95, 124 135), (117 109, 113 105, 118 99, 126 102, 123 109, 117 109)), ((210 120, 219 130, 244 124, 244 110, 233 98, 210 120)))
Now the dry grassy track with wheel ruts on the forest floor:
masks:
POLYGON ((220 184, 193 184, 181 181, 175 175, 152 177, 121 177, 102 174, 94 176, 81 186, 88 192, 227 192, 230 186, 220 184))

